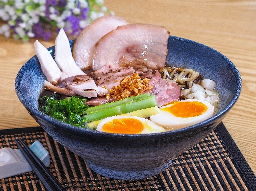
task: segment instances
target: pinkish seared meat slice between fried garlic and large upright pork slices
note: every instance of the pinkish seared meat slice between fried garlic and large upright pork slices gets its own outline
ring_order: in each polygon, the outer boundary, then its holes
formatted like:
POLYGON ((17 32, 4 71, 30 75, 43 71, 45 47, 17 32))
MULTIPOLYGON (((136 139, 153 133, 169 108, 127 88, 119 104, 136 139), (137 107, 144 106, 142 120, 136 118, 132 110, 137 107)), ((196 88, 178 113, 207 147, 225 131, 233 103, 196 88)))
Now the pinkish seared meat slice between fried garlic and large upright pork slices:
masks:
POLYGON ((93 77, 97 86, 110 89, 118 85, 124 77, 130 76, 134 72, 135 70, 132 67, 113 69, 111 66, 105 65, 100 70, 92 72, 90 76, 93 77))

